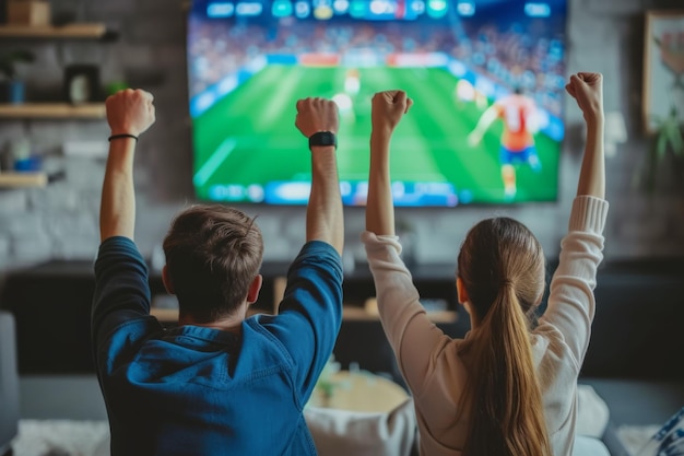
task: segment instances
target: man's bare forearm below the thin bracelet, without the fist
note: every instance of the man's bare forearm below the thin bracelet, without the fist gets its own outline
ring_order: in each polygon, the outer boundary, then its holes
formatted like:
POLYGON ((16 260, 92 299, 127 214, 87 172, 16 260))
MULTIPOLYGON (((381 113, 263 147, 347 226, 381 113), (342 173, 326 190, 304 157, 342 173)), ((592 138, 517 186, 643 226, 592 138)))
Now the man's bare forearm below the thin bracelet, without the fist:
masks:
POLYGON ((135 191, 133 188, 134 139, 117 139, 109 144, 99 210, 99 236, 133 238, 135 191))

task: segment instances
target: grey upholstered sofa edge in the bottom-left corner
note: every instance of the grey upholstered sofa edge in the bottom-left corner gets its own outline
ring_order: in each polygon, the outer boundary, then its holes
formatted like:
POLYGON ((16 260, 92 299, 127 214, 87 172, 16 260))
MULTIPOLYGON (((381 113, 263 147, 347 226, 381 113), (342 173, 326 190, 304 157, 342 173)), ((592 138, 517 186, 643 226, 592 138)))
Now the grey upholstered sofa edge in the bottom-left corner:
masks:
POLYGON ((11 454, 19 432, 19 373, 14 318, 0 311, 0 455, 11 454))

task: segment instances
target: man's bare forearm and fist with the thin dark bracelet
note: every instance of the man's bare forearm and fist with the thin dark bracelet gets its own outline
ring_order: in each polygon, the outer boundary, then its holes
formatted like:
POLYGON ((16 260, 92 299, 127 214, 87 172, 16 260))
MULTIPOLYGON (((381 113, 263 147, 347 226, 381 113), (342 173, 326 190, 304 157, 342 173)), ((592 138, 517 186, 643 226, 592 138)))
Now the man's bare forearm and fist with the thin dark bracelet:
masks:
POLYGON ((138 137, 154 124, 152 102, 152 94, 131 89, 117 92, 106 101, 111 136, 99 209, 101 241, 113 236, 133 238, 133 159, 138 137))

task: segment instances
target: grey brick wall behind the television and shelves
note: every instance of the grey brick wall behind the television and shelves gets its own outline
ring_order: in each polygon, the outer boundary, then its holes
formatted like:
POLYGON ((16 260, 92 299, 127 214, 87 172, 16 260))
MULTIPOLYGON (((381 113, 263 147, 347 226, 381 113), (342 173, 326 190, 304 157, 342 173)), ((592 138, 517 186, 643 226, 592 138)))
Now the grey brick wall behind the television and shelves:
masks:
MULTIPOLYGON (((646 143, 640 132, 644 11, 676 8, 676 0, 571 0, 568 24, 568 73, 597 70, 605 75, 605 108, 622 112, 629 140, 608 161, 611 213, 606 258, 684 256, 684 191, 667 189, 647 196, 633 188, 646 143)), ((22 42, 37 62, 22 71, 28 97, 55 100, 61 94, 64 65, 96 63, 103 83, 125 78, 155 95, 157 122, 140 141, 137 156, 138 231, 144 255, 157 248, 174 213, 192 200, 190 124, 187 115, 185 16, 180 0, 52 0, 57 14, 75 14, 83 22, 101 21, 120 32, 115 43, 22 42)), ((20 46, 0 42, 0 51, 20 46)), ((400 210, 410 223, 422 262, 455 262, 464 232, 479 219, 507 214, 527 223, 547 255, 558 252, 567 224, 581 157, 581 122, 568 103, 568 135, 562 157, 557 203, 519 208, 400 210), (429 222, 428 222, 429 221, 429 222), (445 245, 450 247, 445 248, 445 245)), ((291 121, 284 119, 283 121, 291 121)), ((0 190, 0 272, 47 259, 93 258, 98 244, 98 202, 104 160, 64 157, 69 140, 106 143, 104 120, 0 120, 0 142, 30 137, 44 155, 47 171, 62 178, 45 189, 0 190)), ((3 144, 0 144, 3 145, 3 144)), ((668 188, 668 186, 664 186, 668 188)), ((304 241, 304 208, 246 207, 259 214, 267 259, 292 258, 304 241)), ((363 260, 358 233, 364 212, 346 210, 347 250, 363 260)))

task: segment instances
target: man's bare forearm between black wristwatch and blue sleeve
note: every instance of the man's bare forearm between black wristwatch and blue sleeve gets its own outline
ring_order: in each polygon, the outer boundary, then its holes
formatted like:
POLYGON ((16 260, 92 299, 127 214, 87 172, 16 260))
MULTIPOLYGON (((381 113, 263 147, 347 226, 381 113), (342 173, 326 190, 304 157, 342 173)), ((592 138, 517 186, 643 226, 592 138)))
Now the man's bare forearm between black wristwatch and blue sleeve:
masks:
POLYGON ((327 242, 340 255, 344 247, 344 215, 334 147, 317 147, 311 151, 306 239, 327 242))

